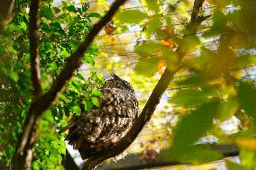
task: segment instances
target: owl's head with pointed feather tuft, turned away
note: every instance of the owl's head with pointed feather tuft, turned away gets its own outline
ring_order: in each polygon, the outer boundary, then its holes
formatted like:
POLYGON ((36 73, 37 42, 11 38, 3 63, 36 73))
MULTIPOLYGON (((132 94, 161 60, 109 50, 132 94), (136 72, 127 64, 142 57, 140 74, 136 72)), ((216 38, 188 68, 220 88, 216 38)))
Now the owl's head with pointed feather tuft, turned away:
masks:
POLYGON ((127 81, 123 80, 120 76, 117 76, 114 73, 112 73, 111 76, 113 76, 113 78, 106 81, 107 86, 134 92, 133 86, 127 81))

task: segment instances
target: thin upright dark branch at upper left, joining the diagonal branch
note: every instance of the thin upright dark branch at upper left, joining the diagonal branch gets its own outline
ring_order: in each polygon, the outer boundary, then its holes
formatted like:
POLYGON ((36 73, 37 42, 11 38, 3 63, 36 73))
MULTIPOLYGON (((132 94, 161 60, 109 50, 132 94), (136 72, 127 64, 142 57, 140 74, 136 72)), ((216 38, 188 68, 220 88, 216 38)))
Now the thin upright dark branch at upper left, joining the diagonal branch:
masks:
POLYGON ((39 0, 32 0, 30 6, 30 54, 31 54, 31 72, 32 87, 35 98, 41 95, 41 72, 39 59, 39 0))

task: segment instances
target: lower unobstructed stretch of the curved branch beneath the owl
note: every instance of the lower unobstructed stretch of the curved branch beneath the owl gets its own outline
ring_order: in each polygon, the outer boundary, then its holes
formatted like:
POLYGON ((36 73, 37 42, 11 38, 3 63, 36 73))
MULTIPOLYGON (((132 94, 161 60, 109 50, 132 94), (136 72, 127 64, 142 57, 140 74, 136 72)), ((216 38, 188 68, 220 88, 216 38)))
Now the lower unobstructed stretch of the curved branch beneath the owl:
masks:
POLYGON ((170 71, 169 68, 165 70, 163 75, 160 77, 160 81, 153 89, 148 102, 146 103, 142 110, 142 113, 136 120, 131 130, 129 130, 128 133, 121 140, 119 140, 112 148, 107 148, 98 155, 89 158, 87 160, 86 166, 84 167, 84 170, 95 169, 95 167, 99 163, 101 163, 107 158, 117 156, 133 143, 134 139, 136 139, 136 137, 142 131, 145 124, 147 124, 151 120, 151 116, 155 111, 157 104, 160 103, 161 95, 167 89, 169 81, 173 78, 173 75, 177 70, 170 71))

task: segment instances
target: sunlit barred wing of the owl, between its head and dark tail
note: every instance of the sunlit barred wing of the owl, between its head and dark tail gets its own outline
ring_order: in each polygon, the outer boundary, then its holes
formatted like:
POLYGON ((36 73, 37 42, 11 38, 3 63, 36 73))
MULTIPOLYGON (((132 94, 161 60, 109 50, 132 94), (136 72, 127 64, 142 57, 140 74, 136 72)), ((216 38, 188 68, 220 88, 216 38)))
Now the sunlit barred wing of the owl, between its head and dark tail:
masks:
POLYGON ((119 88, 105 88, 104 96, 101 114, 103 127, 96 130, 96 148, 107 147, 122 138, 138 115, 138 102, 133 94, 119 88))

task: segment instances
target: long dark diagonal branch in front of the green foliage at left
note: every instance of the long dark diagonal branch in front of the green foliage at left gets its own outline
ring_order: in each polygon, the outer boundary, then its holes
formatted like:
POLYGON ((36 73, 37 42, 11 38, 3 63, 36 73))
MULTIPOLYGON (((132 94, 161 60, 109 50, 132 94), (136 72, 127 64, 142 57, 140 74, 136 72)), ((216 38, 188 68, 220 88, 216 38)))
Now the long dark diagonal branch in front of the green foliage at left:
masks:
MULTIPOLYGON (((81 64, 84 53, 92 40, 94 40, 97 33, 105 26, 105 24, 111 21, 114 13, 116 13, 118 8, 125 1, 126 0, 116 0, 114 2, 105 16, 99 22, 97 22, 93 29, 88 33, 87 39, 80 44, 78 50, 68 58, 66 66, 63 68, 56 81, 51 85, 50 90, 46 94, 40 95, 32 102, 29 113, 23 124, 23 133, 18 140, 18 145, 13 158, 14 170, 31 168, 33 147, 37 137, 36 130, 38 129, 43 112, 45 112, 54 103, 54 101, 58 99, 61 89, 64 88, 66 82, 73 76, 73 72, 81 64)), ((32 1, 32 3, 35 2, 32 1)), ((32 11, 35 10, 33 8, 37 8, 37 6, 34 5, 31 5, 31 7, 32 11)))

